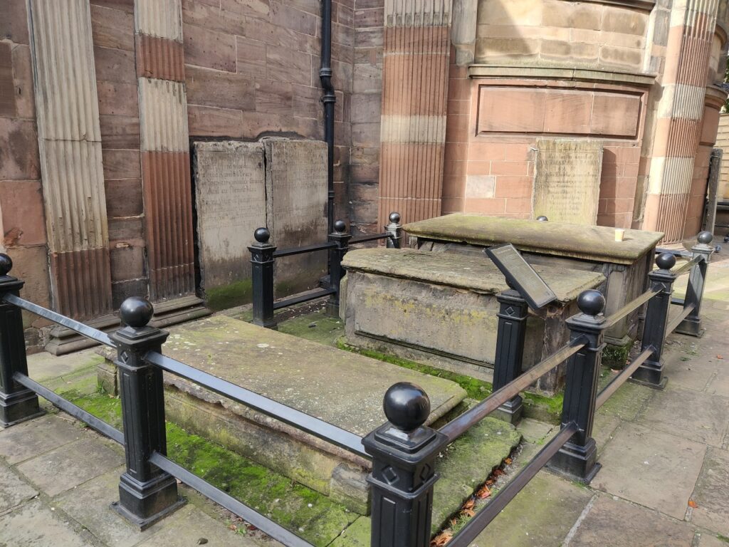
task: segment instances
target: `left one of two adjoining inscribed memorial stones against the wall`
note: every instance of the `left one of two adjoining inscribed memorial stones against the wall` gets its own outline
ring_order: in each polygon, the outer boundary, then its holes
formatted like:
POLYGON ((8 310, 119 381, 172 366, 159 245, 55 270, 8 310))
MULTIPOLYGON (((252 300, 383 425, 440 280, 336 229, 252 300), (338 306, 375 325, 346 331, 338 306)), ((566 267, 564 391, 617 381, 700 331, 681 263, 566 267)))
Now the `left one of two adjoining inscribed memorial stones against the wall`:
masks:
POLYGON ((208 306, 228 308, 250 301, 248 246, 266 225, 263 145, 195 142, 193 149, 200 285, 208 306))

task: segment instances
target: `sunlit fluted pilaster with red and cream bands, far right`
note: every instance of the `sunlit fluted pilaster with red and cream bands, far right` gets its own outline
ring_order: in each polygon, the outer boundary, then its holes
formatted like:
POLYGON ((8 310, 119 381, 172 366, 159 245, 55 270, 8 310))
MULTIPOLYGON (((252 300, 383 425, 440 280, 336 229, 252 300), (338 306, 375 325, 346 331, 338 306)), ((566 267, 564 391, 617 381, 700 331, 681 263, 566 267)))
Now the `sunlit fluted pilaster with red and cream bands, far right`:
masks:
POLYGON ((643 228, 684 236, 718 0, 674 2, 643 228))

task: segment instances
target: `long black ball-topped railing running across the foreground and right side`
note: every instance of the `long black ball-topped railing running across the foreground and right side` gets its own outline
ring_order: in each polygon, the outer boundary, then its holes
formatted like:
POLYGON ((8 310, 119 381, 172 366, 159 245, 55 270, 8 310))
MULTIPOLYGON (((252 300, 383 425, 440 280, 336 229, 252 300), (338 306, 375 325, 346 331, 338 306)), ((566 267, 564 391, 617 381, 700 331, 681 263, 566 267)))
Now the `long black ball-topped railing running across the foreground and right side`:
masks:
POLYGON ((430 414, 427 394, 414 384, 394 384, 383 399, 388 422, 364 438, 163 355, 162 346, 168 333, 149 327, 154 310, 143 298, 128 298, 122 303, 120 315, 125 326, 109 336, 20 298, 23 282, 8 275, 12 262, 7 255, 0 255, 0 425, 10 427, 42 414, 37 397, 40 395, 121 443, 125 447, 127 468, 120 478, 120 500, 116 508, 141 528, 168 515, 182 503, 177 478, 284 545, 310 545, 166 457, 163 371, 172 373, 354 454, 371 458, 373 468, 367 478, 372 488, 371 545, 426 547, 430 541, 433 487, 438 478, 435 460, 440 451, 494 411, 499 411, 502 418, 515 419, 520 412, 519 393, 566 361, 560 432, 451 540, 451 546, 464 547, 545 466, 577 481, 589 482, 593 478, 600 468, 592 437, 596 409, 629 378, 660 387, 661 352, 666 335, 681 325, 685 325, 687 333, 700 332, 698 312, 706 264, 713 250, 708 245, 710 242, 711 235, 701 233, 699 243, 693 248, 695 262, 689 276, 687 303, 674 319, 669 321, 668 310, 673 283, 682 268, 672 271, 676 257, 663 253, 656 260, 658 270, 649 274, 650 288, 609 317, 603 314, 604 296, 596 290, 583 291, 577 299, 580 313, 566 320, 569 342, 524 373, 521 373, 521 357, 526 303, 520 301, 515 291, 504 291, 498 297, 502 309, 494 392, 440 430, 434 430, 424 425, 430 414), (605 330, 646 304, 641 352, 598 392, 605 330), (28 378, 23 309, 117 349, 114 362, 120 374, 123 432, 28 378))

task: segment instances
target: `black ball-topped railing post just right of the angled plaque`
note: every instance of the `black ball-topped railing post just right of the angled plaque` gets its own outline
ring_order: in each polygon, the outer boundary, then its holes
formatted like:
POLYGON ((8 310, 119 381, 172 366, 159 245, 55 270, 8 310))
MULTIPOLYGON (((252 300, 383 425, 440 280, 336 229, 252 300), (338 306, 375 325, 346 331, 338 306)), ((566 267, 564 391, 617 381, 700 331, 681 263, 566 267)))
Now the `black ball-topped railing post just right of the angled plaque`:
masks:
POLYGON ((577 307, 582 313, 567 319, 570 340, 585 346, 567 360, 564 403, 562 405, 562 427, 572 422, 577 424, 577 433, 558 451, 547 466, 561 475, 589 483, 600 470, 597 447, 592 438, 595 418, 595 400, 600 375, 603 335, 606 325, 602 311, 605 298, 599 291, 582 291, 577 298, 577 307))

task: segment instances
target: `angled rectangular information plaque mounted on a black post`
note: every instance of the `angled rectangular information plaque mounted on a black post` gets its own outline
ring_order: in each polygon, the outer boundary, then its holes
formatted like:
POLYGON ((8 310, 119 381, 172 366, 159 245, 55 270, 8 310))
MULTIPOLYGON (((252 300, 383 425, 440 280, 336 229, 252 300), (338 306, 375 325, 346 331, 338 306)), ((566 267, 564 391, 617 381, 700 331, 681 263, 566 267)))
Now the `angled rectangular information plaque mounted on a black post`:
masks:
POLYGON ((512 244, 489 247, 485 252, 502 271, 507 283, 518 290, 521 298, 526 300, 531 309, 543 308, 548 303, 557 300, 557 295, 553 290, 539 277, 534 268, 526 263, 521 253, 512 244))

